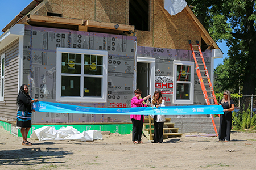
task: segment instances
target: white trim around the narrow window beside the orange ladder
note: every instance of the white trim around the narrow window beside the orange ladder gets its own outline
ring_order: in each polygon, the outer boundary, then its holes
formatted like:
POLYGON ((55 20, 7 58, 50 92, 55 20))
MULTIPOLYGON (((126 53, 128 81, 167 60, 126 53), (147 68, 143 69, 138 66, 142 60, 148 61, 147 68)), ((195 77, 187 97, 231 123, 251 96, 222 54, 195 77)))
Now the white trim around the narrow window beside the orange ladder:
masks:
POLYGON ((174 96, 172 97, 172 103, 174 104, 193 104, 194 103, 194 62, 191 61, 174 61, 174 96), (190 84, 190 99, 189 100, 176 100, 177 90, 177 65, 189 65, 191 66, 191 80, 189 82, 179 82, 190 84))

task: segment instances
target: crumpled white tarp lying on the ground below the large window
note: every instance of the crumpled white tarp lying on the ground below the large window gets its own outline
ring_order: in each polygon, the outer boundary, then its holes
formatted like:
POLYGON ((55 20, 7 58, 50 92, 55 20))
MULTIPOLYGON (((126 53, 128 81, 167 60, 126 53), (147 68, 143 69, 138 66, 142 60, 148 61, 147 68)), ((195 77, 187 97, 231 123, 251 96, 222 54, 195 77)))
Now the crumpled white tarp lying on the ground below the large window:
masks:
POLYGON ((71 126, 61 127, 56 130, 50 126, 43 126, 42 128, 36 129, 30 136, 31 138, 43 140, 76 140, 76 141, 93 141, 100 139, 102 140, 102 134, 100 130, 87 130, 80 133, 71 126))

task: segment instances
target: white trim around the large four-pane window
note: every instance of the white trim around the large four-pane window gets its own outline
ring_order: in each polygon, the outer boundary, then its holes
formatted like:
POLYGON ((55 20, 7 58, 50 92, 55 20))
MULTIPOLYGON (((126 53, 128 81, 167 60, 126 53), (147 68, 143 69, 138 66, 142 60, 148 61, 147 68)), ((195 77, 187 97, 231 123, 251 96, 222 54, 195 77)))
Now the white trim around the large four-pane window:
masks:
MULTIPOLYGON (((73 102, 79 101, 83 103, 106 103, 107 88, 108 88, 108 52, 103 50, 87 50, 87 49, 74 49, 74 48, 57 48, 56 59, 56 101, 73 102), (102 97, 75 97, 75 96, 62 96, 61 97, 61 53, 76 53, 76 54, 92 54, 103 56, 103 69, 102 75, 92 75, 92 77, 102 77, 102 97)), ((80 86, 82 81, 80 82, 80 86)), ((80 88, 80 93, 83 92, 83 88, 80 88)))

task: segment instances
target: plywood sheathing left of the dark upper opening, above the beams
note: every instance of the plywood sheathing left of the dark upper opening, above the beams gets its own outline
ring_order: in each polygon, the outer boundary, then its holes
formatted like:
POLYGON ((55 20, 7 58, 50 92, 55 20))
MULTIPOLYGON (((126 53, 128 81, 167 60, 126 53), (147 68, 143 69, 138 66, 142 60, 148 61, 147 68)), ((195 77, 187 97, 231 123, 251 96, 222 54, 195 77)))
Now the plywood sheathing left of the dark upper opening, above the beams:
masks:
POLYGON ((64 18, 129 24, 129 0, 49 0, 38 14, 47 16, 47 12, 63 14, 64 18))

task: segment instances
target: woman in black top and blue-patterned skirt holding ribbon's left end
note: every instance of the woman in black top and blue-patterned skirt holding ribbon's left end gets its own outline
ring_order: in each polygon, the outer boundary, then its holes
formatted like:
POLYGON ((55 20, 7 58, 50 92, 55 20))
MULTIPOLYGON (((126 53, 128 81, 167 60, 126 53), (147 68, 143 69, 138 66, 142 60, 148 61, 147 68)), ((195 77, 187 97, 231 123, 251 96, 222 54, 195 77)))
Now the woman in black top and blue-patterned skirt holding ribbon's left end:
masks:
POLYGON ((23 138, 22 145, 32 145, 31 142, 27 141, 27 134, 31 128, 31 113, 33 111, 32 103, 37 101, 38 99, 31 99, 28 94, 27 85, 22 84, 17 96, 17 105, 19 107, 17 112, 17 126, 21 128, 20 133, 23 138))

